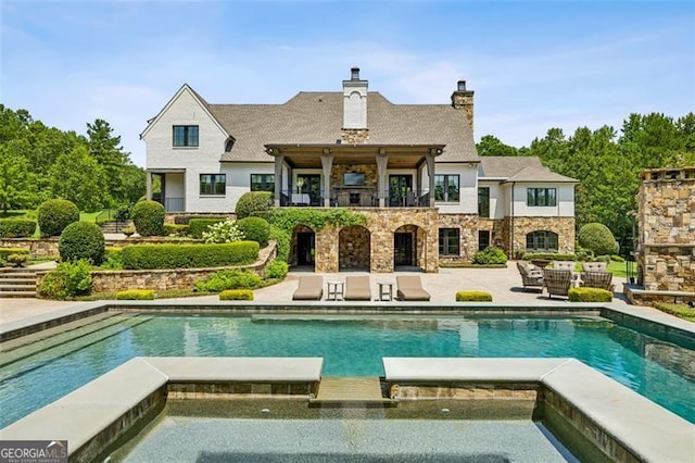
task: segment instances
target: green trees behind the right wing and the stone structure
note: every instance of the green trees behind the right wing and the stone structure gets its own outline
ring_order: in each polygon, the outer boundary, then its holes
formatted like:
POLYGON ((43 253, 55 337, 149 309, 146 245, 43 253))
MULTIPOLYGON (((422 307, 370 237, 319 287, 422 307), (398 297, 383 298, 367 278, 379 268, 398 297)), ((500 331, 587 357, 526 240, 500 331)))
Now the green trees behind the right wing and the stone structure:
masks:
POLYGON ((577 228, 592 222, 606 225, 624 253, 632 250, 640 173, 695 165, 695 113, 677 120, 630 114, 620 133, 610 126, 579 127, 568 137, 551 128, 521 148, 485 135, 477 147, 480 155, 535 155, 552 171, 577 178, 577 228))

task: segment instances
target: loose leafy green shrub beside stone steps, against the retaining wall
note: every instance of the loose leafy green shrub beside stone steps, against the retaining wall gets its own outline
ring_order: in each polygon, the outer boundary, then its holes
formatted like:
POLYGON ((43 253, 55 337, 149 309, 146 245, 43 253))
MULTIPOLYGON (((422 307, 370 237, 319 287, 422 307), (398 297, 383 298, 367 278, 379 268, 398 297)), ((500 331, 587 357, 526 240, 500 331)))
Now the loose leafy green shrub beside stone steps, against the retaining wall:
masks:
POLYGON ((38 293, 47 299, 68 299, 91 291, 91 265, 87 261, 61 262, 47 273, 38 293))

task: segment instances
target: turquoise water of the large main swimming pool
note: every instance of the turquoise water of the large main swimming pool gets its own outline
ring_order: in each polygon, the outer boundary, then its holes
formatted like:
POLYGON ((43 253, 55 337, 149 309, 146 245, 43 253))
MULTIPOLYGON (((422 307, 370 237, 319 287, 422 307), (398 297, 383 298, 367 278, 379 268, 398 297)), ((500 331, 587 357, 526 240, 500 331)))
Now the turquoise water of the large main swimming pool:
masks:
POLYGON ((695 352, 598 317, 119 314, 61 336, 78 334, 0 359, 0 427, 148 355, 323 356, 324 376, 381 376, 383 356, 572 356, 695 423, 695 352))

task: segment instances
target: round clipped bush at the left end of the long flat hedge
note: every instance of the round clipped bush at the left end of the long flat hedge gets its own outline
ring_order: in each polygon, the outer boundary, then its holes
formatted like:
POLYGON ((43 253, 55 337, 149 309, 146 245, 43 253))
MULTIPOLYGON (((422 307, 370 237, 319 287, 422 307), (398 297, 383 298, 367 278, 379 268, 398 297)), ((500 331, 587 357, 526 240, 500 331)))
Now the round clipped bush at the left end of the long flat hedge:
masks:
POLYGON ((65 227, 58 241, 62 261, 91 261, 99 265, 104 259, 104 235, 93 222, 75 222, 65 227))

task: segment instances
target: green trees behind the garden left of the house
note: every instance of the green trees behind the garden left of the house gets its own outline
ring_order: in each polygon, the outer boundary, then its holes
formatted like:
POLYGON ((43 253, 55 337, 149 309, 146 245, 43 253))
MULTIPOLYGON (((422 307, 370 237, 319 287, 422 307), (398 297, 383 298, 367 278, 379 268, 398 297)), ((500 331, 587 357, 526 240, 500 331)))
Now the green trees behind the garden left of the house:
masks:
POLYGON ((83 136, 0 104, 0 209, 5 214, 51 198, 87 212, 122 208, 144 192, 144 170, 132 163, 106 121, 87 123, 83 136))

